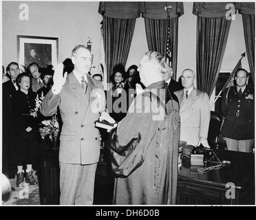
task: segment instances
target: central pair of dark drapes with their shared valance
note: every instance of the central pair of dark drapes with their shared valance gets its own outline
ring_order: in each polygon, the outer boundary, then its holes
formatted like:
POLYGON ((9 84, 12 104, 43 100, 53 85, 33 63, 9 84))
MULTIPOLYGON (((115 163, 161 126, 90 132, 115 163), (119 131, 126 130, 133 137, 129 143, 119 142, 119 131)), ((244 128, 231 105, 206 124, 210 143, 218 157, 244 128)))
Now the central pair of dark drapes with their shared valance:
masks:
POLYGON ((101 1, 98 12, 103 15, 103 42, 108 82, 114 65, 127 63, 136 18, 140 17, 140 14, 145 18, 149 50, 162 54, 167 50, 167 19, 170 19, 169 50, 171 50, 171 65, 175 79, 178 55, 178 17, 184 13, 182 2, 101 1), (171 8, 169 17, 167 6, 171 8))

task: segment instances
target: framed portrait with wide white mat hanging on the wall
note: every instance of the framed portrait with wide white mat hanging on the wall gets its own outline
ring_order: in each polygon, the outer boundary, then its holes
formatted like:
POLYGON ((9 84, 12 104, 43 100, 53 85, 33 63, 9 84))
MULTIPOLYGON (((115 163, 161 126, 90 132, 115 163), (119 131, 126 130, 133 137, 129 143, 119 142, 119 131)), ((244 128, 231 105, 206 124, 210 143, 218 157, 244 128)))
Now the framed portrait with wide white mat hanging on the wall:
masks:
POLYGON ((17 36, 19 65, 28 67, 38 63, 40 67, 58 63, 58 38, 45 36, 17 36))

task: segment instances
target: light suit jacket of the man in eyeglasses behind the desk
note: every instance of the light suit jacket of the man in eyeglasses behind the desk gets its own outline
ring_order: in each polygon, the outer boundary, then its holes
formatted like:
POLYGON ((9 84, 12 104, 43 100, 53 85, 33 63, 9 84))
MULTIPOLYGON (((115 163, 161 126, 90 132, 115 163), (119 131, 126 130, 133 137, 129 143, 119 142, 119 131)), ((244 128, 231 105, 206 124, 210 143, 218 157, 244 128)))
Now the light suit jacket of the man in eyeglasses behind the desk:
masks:
POLYGON ((180 102, 180 140, 198 146, 200 137, 208 136, 211 119, 209 96, 195 88, 187 99, 184 98, 184 89, 174 94, 180 102))

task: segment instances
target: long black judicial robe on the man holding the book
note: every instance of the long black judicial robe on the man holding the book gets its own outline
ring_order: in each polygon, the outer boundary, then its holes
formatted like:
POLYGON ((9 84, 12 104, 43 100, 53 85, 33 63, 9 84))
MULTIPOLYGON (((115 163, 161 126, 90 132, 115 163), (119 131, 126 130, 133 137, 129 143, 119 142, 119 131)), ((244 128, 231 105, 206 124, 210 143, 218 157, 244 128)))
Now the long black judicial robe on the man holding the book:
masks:
MULTIPOLYGON (((117 174, 114 184, 116 205, 175 203, 180 138, 178 102, 170 100, 167 106, 158 108, 158 100, 148 95, 148 91, 164 87, 164 81, 160 81, 138 94, 131 103, 127 116, 109 133, 107 144, 111 149, 111 165, 117 174), (171 114, 168 135, 161 137, 162 141, 157 143, 159 139, 156 130, 165 113, 171 114), (122 161, 120 155, 132 157, 126 157, 122 161), (131 164, 126 166, 125 163, 129 160, 131 164)), ((160 94, 158 98, 164 101, 164 94, 160 94)))

